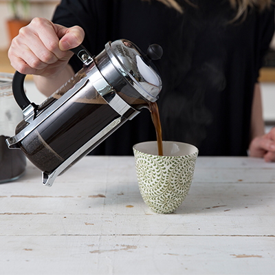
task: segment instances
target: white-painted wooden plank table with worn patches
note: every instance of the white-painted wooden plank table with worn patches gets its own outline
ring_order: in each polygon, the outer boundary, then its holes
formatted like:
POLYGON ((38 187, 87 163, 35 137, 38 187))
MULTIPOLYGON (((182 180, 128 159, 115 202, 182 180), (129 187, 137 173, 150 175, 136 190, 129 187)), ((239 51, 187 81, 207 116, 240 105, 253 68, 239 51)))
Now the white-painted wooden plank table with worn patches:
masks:
POLYGON ((85 157, 51 188, 0 184, 0 274, 275 274, 275 164, 199 157, 175 214, 142 201, 133 157, 85 157))

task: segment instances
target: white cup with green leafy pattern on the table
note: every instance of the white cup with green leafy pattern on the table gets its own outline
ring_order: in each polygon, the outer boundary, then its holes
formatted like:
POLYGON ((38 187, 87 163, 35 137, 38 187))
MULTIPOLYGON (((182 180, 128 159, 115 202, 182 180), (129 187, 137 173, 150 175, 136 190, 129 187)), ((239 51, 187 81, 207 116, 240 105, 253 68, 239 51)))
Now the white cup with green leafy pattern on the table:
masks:
POLYGON ((153 212, 168 214, 184 201, 192 182, 198 149, 182 142, 163 142, 164 155, 157 142, 133 146, 137 181, 142 199, 153 212))

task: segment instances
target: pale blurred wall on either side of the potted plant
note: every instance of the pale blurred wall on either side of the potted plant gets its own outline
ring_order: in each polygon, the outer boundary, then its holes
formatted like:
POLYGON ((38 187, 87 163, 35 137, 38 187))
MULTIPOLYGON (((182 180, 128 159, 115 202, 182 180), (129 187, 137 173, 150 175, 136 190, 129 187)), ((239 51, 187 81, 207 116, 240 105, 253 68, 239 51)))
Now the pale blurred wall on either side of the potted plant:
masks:
MULTIPOLYGON (((45 17, 52 19, 58 0, 30 0, 30 19, 45 17)), ((7 50, 10 46, 6 21, 12 17, 9 0, 0 0, 0 50, 7 50)))

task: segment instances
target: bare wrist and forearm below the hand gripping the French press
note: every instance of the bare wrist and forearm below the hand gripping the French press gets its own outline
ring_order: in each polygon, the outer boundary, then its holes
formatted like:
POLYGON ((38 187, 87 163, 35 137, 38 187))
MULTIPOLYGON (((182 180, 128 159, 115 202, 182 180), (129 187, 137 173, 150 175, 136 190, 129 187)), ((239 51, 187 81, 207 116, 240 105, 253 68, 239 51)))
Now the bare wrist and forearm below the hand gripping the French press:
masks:
POLYGON ((74 70, 69 64, 67 64, 63 71, 57 76, 45 77, 34 75, 34 83, 37 89, 48 97, 66 83, 69 78, 72 78, 72 76, 74 76, 74 70))

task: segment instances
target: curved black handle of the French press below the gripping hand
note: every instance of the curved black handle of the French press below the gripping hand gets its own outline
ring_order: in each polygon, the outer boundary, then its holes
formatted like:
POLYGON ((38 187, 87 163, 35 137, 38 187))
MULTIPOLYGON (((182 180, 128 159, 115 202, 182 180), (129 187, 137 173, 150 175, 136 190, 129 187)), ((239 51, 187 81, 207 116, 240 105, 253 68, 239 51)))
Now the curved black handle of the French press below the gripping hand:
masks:
POLYGON ((12 92, 17 104, 19 104, 19 107, 22 110, 31 104, 30 100, 28 100, 27 96, 25 95, 24 80, 25 74, 15 72, 12 79, 12 92))

